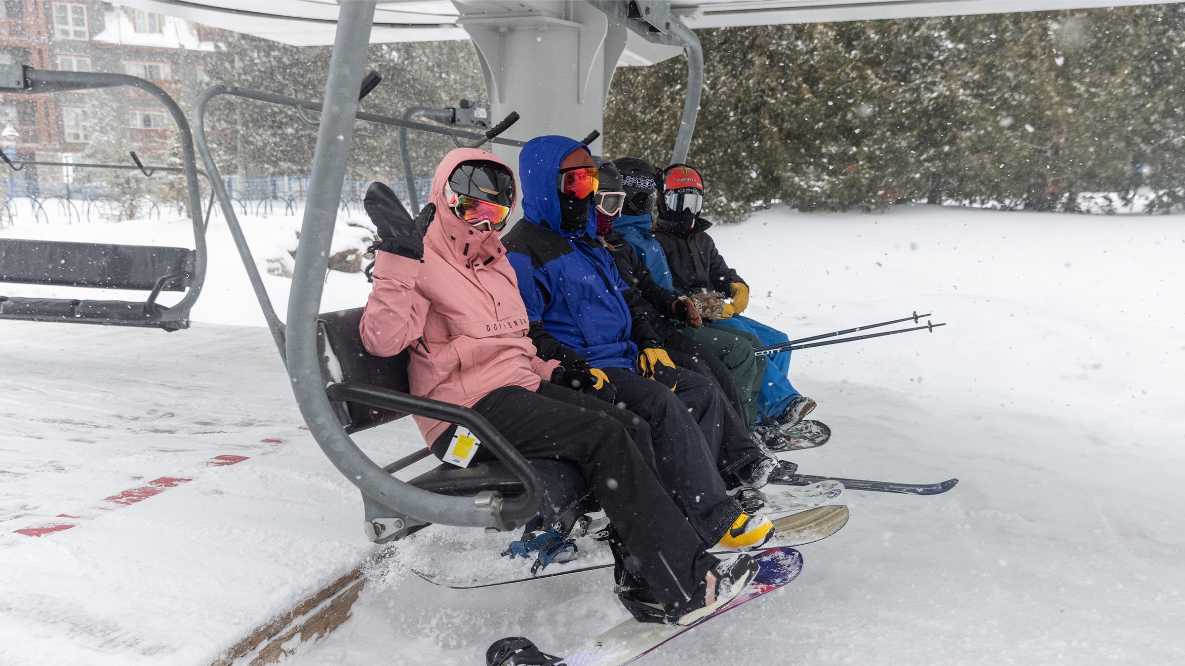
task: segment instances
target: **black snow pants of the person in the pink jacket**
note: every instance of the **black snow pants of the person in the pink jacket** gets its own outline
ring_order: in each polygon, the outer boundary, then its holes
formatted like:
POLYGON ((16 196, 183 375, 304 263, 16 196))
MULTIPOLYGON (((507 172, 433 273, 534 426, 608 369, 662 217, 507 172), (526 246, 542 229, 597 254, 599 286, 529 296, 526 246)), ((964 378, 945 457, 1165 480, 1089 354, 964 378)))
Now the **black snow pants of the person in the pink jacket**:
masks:
MULTIPOLYGON (((627 424, 642 425, 635 415, 549 383, 538 391, 495 389, 473 409, 525 457, 579 467, 629 552, 630 568, 636 566, 661 603, 686 603, 717 559, 707 555, 654 475, 648 456, 630 438, 627 424)), ((491 457, 479 449, 474 460, 491 457)))

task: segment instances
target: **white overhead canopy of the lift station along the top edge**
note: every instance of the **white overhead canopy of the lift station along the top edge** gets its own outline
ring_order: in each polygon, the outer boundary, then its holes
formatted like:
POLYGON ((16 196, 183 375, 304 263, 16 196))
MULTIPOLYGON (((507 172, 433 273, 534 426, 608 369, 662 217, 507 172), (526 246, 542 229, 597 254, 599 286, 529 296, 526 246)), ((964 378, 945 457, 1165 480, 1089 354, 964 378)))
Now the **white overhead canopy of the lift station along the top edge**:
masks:
MULTIPOLYGON (((672 0, 674 13, 693 28, 851 21, 908 17, 995 14, 1157 5, 1165 0, 672 0)), ((338 17, 335 0, 123 0, 123 5, 160 12, 236 32, 292 44, 333 44, 338 17)), ((456 25, 460 12, 523 13, 531 1, 448 2, 440 0, 380 0, 374 12, 372 43, 468 39, 456 25)), ((553 2, 552 6, 556 4, 553 2)))

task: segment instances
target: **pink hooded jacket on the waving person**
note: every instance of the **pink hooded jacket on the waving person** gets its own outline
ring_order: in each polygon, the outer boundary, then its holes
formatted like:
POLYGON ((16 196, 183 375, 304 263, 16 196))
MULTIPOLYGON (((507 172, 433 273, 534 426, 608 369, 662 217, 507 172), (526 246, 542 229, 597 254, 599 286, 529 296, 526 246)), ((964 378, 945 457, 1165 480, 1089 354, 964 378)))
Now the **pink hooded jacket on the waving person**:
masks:
MULTIPOLYGON (((534 353, 526 306, 498 233, 473 229, 446 205, 448 177, 467 160, 506 165, 486 151, 457 148, 436 167, 429 198, 436 217, 424 236, 423 262, 377 252, 361 337, 374 356, 411 347, 412 393, 473 406, 502 386, 538 389, 559 363, 534 353)), ((428 446, 449 425, 415 418, 428 446)))

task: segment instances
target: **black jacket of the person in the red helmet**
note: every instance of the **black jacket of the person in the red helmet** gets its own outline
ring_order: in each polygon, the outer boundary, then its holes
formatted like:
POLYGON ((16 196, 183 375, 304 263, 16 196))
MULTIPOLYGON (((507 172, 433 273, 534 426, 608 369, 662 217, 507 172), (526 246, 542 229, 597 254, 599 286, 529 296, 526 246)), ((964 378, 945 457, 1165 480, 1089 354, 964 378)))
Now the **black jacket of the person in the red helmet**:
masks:
POLYGON ((730 295, 732 289, 729 284, 744 282, 716 250, 716 242, 706 233, 711 225, 712 223, 699 218, 687 231, 674 223, 659 219, 658 229, 652 231, 666 252, 671 281, 674 290, 680 294, 719 292, 730 295))

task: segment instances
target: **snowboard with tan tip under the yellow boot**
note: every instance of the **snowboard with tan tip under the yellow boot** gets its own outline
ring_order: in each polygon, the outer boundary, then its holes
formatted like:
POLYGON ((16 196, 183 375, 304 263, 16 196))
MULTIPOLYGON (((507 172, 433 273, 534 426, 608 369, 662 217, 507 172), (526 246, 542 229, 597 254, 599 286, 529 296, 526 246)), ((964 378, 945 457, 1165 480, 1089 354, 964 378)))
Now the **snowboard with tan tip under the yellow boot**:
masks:
MULTIPOLYGON (((844 505, 819 506, 777 518, 773 520, 774 537, 764 544, 764 547, 800 546, 826 539, 843 530, 844 525, 847 524, 847 507, 844 505)), ((501 536, 505 539, 505 532, 501 536)), ((416 576, 435 585, 468 590, 542 581, 613 566, 613 553, 607 544, 590 538, 577 539, 576 543, 581 549, 578 558, 566 563, 552 563, 534 576, 531 575, 532 559, 489 556, 482 565, 465 569, 457 566, 455 559, 440 557, 440 551, 436 551, 434 557, 422 562, 409 563, 409 569, 416 576)), ((720 555, 732 551, 712 550, 710 552, 720 555)))

